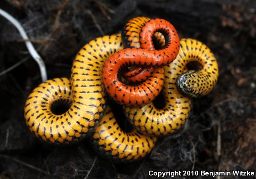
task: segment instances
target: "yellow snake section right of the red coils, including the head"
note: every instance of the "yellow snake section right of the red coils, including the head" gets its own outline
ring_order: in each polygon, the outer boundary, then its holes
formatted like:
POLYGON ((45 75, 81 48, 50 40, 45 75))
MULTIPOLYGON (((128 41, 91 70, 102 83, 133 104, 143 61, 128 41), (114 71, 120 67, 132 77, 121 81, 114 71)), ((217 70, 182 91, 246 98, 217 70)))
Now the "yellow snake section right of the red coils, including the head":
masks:
POLYGON ((163 95, 165 106, 157 109, 153 102, 137 108, 125 108, 131 123, 142 132, 161 136, 181 128, 188 118, 191 100, 186 97, 209 93, 218 79, 218 64, 210 49, 194 39, 181 39, 177 58, 164 67, 163 95), (187 70, 189 62, 198 62, 202 69, 187 70), (183 93, 180 93, 184 91, 183 93))

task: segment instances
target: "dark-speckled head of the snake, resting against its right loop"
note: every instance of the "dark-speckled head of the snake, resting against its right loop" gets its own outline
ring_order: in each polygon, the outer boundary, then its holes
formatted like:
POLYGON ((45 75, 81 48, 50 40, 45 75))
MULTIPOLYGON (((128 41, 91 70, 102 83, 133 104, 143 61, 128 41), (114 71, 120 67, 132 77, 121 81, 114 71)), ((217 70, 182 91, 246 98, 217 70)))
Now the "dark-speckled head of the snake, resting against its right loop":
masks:
POLYGON ((177 89, 184 95, 193 98, 202 96, 200 94, 200 83, 202 83, 200 80, 200 73, 195 70, 189 70, 187 73, 181 74, 176 80, 177 89))

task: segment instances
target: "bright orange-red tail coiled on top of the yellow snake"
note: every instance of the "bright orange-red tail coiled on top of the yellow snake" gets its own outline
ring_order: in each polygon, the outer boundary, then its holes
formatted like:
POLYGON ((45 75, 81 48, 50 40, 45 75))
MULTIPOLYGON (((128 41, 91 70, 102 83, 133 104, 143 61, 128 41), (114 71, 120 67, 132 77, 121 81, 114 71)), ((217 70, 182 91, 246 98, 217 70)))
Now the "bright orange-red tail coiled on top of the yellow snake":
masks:
MULTIPOLYGON (((125 106, 142 106, 153 101, 162 90, 163 80, 152 80, 150 77, 139 84, 129 85, 118 75, 121 69, 128 66, 164 66, 176 58, 180 48, 176 29, 170 22, 160 18, 150 19, 144 24, 139 33, 139 41, 141 48, 117 51, 103 67, 102 78, 106 91, 115 101, 125 106), (165 47, 159 50, 154 49, 152 37, 155 32, 161 32, 165 36, 165 47)), ((162 68, 154 70, 154 73, 161 72, 162 68)))

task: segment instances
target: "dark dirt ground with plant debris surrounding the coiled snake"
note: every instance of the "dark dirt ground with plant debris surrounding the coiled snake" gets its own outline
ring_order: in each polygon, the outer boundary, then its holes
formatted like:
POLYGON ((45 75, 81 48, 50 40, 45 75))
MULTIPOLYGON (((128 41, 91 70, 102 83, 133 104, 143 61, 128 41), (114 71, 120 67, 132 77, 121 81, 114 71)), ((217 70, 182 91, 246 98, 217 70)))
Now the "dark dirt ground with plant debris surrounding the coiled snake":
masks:
POLYGON ((69 77, 84 44, 119 33, 136 16, 168 20, 180 37, 207 44, 219 65, 217 85, 193 100, 182 135, 160 139, 141 161, 116 164, 97 156, 87 140, 51 146, 28 131, 23 107, 41 76, 18 31, 0 17, 0 179, 145 179, 149 170, 256 172, 255 0, 1 0, 0 8, 19 19, 49 79, 69 77))

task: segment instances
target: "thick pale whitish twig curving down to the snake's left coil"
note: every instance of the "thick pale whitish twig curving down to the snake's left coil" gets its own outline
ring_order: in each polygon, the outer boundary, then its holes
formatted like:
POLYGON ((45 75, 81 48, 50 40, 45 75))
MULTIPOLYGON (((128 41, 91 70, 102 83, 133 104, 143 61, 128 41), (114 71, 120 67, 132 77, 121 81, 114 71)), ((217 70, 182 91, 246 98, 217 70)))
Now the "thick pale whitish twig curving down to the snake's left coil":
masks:
MULTIPOLYGON (((4 18, 6 18, 8 21, 10 21, 19 30, 19 33, 24 40, 29 39, 28 36, 26 35, 25 30, 21 26, 21 24, 14 17, 12 17, 10 14, 8 14, 6 11, 4 11, 2 9, 0 9, 0 15, 2 15, 4 18)), ((26 44, 28 51, 30 52, 30 55, 38 63, 38 66, 39 66, 39 69, 41 72, 42 81, 46 81, 47 73, 46 73, 44 61, 42 60, 42 58, 40 57, 38 52, 35 50, 33 44, 30 41, 25 41, 25 44, 26 44)))

